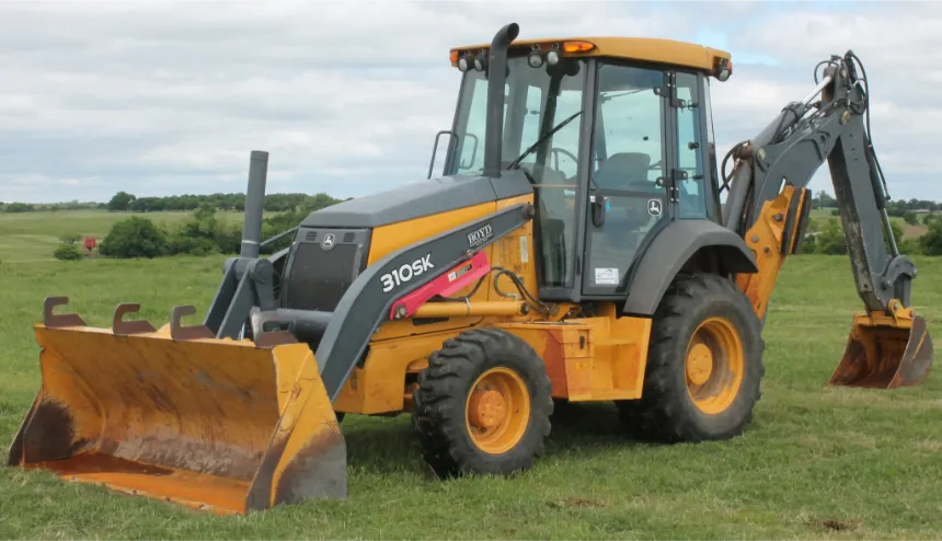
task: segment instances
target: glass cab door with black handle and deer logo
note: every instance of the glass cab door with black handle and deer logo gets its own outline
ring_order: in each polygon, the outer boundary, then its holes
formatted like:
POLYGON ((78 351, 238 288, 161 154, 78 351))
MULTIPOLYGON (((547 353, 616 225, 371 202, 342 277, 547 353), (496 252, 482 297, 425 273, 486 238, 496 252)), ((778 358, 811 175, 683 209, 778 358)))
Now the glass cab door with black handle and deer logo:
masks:
POLYGON ((674 217, 670 94, 663 70, 598 64, 584 297, 624 297, 642 243, 674 217))

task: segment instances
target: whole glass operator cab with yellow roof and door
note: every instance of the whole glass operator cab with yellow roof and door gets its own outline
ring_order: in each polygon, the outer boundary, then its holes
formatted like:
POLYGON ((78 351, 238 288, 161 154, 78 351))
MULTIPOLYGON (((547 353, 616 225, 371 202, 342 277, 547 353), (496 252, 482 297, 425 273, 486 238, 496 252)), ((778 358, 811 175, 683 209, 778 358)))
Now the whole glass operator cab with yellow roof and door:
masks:
MULTIPOLYGON (((485 49, 452 50, 463 78, 445 174, 484 169, 485 49)), ((510 45, 502 170, 522 169, 535 187, 541 298, 624 298, 632 263, 659 229, 720 221, 709 101, 716 53, 636 38, 510 45), (671 54, 710 69, 655 61, 671 54)))

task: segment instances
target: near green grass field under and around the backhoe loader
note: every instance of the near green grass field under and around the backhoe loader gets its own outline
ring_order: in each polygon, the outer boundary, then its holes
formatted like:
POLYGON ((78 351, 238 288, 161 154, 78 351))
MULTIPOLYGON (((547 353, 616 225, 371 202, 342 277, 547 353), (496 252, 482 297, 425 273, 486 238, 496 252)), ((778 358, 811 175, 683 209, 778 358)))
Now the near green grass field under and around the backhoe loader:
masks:
MULTIPOLYGON (((0 439, 39 385, 32 324, 46 296, 106 326, 117 302, 154 323, 200 313, 221 257, 0 264, 0 439)), ((942 260, 918 258, 914 299, 942 325, 942 260)), ((349 416, 349 497, 216 517, 42 472, 0 469, 4 539, 940 539, 942 376, 896 391, 825 385, 861 307, 843 257, 797 256, 766 329, 763 398, 748 431, 701 445, 630 441, 608 404, 571 405, 536 468, 440 482, 406 416, 349 416)))

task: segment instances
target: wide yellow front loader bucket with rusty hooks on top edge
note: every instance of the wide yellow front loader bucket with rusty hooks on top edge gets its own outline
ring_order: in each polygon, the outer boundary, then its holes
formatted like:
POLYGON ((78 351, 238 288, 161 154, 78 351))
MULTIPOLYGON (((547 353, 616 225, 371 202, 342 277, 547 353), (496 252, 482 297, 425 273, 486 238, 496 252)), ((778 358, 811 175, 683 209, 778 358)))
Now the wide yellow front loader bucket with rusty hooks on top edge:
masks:
POLYGON ((42 389, 10 465, 220 514, 346 496, 346 447, 307 344, 216 339, 122 321, 85 326, 47 299, 42 389))

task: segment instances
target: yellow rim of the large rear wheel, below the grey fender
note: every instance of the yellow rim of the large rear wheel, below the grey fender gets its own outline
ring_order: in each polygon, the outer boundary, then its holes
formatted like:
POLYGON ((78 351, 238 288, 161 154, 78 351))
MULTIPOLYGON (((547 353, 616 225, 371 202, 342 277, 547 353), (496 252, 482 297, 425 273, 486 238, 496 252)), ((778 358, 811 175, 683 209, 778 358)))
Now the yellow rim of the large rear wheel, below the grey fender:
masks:
POLYGON ((733 325, 711 318, 697 327, 687 345, 687 392, 701 412, 724 412, 736 400, 745 371, 743 341, 733 325))

